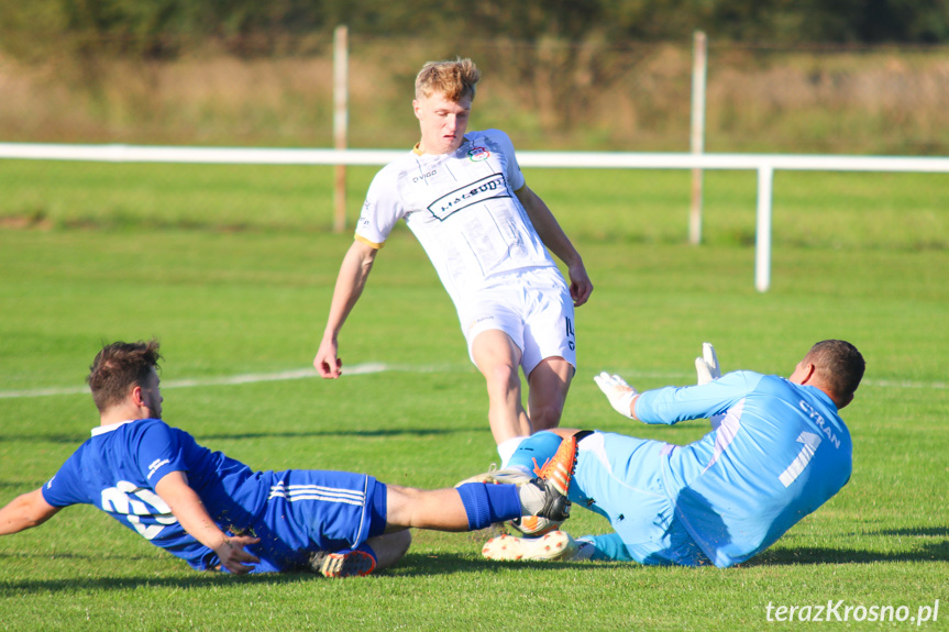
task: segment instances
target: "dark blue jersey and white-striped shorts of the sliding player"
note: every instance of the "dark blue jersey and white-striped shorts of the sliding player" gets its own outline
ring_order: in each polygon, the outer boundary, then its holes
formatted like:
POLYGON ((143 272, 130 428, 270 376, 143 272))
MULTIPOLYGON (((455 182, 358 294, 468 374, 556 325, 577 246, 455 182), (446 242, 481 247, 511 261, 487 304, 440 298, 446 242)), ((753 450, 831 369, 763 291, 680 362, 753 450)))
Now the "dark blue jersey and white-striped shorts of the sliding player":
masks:
POLYGON ((311 552, 355 547, 385 526, 385 486, 373 477, 254 472, 156 419, 96 428, 43 486, 43 497, 54 507, 93 505, 194 568, 214 568, 217 554, 155 492, 172 472, 187 475, 222 531, 261 539, 247 547, 261 558, 256 573, 305 567, 311 552))

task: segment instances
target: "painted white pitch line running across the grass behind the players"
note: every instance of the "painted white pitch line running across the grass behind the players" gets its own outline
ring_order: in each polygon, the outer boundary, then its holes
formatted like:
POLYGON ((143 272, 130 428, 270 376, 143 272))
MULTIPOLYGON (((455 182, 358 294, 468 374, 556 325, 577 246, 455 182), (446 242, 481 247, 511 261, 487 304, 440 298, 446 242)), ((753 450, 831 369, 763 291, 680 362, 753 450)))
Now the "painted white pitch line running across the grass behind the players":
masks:
MULTIPOLYGON (((457 373, 460 370, 473 370, 468 365, 431 365, 431 366, 413 366, 407 364, 383 364, 367 363, 357 364, 343 368, 343 375, 369 375, 374 373, 385 372, 402 372, 402 373, 457 373), (465 367, 462 369, 462 367, 465 367)), ((656 374, 656 373, 637 373, 630 369, 620 369, 621 374, 636 378, 681 378, 684 374, 656 374)), ((206 379, 173 379, 162 382, 163 389, 169 388, 195 388, 201 386, 233 386, 241 384, 258 384, 264 381, 283 381, 288 379, 307 379, 317 377, 316 369, 301 368, 297 370, 283 370, 277 373, 251 373, 245 375, 234 375, 230 377, 210 377, 206 379)), ((874 379, 863 380, 864 386, 875 386, 881 388, 928 388, 933 390, 949 389, 949 382, 945 381, 911 381, 911 380, 893 380, 893 379, 874 379)), ((0 399, 21 399, 27 397, 51 397, 59 395, 85 395, 89 392, 89 388, 82 387, 64 387, 64 388, 34 388, 24 390, 0 390, 0 399)))

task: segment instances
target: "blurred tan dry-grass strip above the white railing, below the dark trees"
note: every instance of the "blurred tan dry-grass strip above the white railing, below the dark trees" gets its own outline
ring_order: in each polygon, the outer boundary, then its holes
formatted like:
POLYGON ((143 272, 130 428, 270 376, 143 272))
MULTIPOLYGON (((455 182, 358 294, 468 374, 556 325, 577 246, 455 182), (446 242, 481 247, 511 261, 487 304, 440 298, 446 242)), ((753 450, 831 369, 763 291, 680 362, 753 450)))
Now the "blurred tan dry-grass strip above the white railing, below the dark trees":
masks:
MULTIPOLYGON (((0 55, 11 43, 2 36, 3 3, 0 55)), ((32 26, 26 20, 18 36, 32 26)), ((416 73, 430 59, 462 55, 482 70, 477 125, 508 131, 518 149, 688 151, 691 30, 685 38, 613 44, 558 41, 549 29, 540 41, 478 36, 467 26, 463 32, 461 40, 462 33, 446 40, 352 33, 350 146, 415 144, 416 73)), ((709 36, 707 152, 949 153, 945 45, 807 47, 798 38, 781 45, 765 37, 766 44, 753 45, 709 36)), ((287 44, 299 46, 295 53, 230 54, 198 38, 188 52, 157 58, 134 54, 136 44, 148 47, 146 41, 121 41, 132 48, 117 56, 90 51, 115 43, 109 37, 82 37, 77 49, 68 38, 43 34, 29 38, 25 58, 0 56, 0 138, 333 145, 329 36, 290 38, 287 44), (37 54, 37 40, 55 43, 58 52, 37 54)))

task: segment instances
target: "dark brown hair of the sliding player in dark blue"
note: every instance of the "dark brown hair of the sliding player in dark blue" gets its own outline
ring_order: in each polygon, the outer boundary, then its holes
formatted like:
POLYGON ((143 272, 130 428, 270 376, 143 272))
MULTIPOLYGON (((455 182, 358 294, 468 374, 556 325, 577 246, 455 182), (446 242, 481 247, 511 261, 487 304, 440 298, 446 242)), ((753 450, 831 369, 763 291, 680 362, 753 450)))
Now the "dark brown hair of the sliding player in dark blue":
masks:
POLYGON ((154 339, 103 346, 96 354, 86 378, 99 412, 122 403, 131 387, 144 387, 152 369, 158 369, 159 359, 158 341, 154 339))

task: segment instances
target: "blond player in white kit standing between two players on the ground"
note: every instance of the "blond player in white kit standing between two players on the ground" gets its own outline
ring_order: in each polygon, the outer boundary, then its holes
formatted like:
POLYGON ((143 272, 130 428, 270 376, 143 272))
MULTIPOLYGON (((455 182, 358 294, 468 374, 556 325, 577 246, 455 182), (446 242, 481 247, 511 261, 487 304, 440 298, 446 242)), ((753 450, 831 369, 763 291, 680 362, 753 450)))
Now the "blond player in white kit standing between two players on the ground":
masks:
POLYGON ((338 336, 376 254, 399 220, 428 253, 454 301, 472 362, 485 376, 488 420, 506 462, 523 436, 560 423, 576 367, 574 307, 593 284, 547 204, 525 182, 504 132, 467 132, 477 68, 429 63, 412 102, 421 141, 369 186, 313 365, 341 374, 338 336), (553 252, 567 267, 563 279, 553 252), (521 368, 529 384, 521 404, 521 368))

